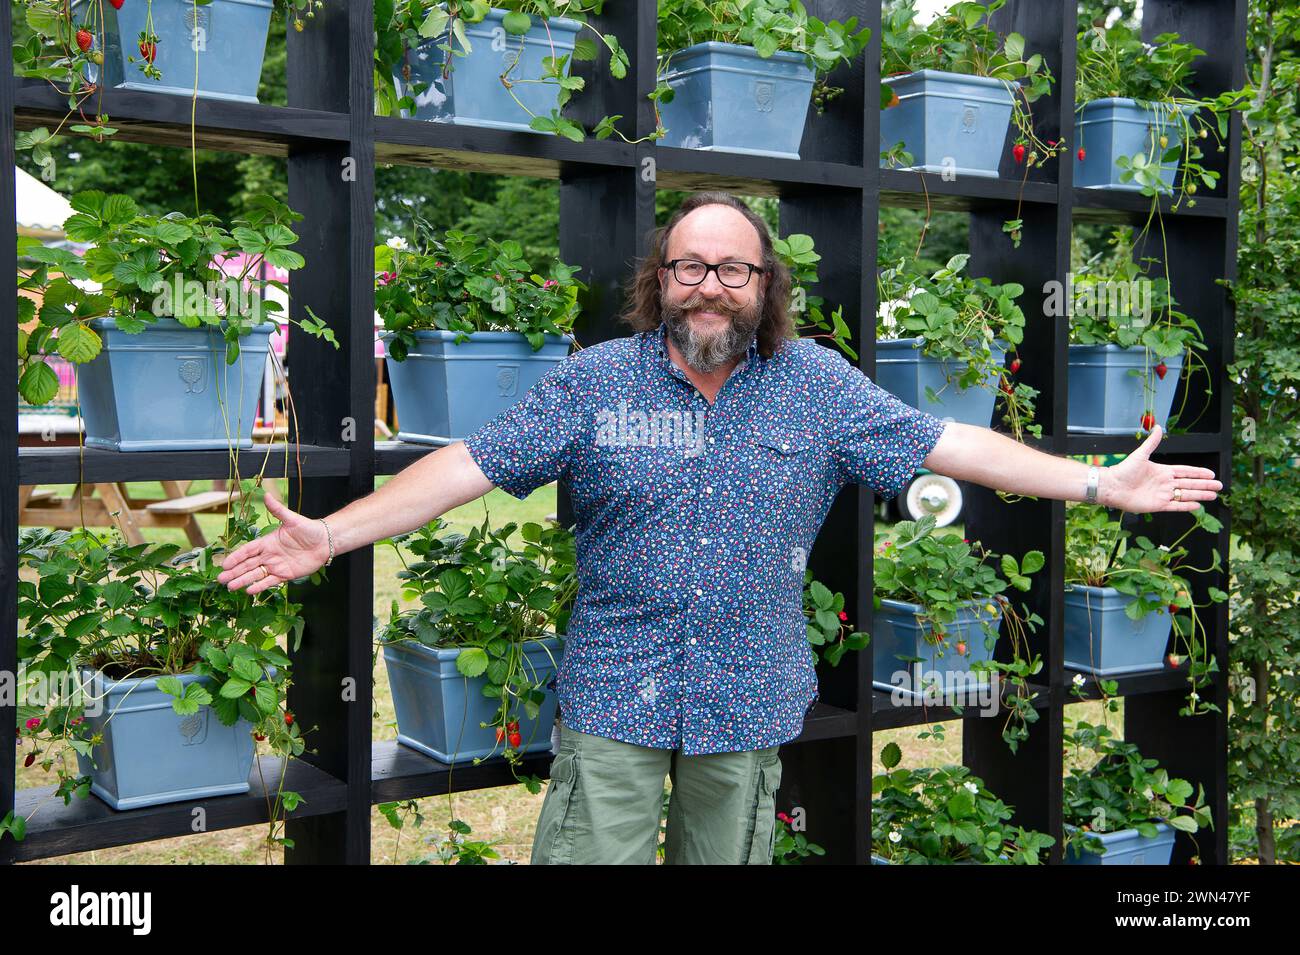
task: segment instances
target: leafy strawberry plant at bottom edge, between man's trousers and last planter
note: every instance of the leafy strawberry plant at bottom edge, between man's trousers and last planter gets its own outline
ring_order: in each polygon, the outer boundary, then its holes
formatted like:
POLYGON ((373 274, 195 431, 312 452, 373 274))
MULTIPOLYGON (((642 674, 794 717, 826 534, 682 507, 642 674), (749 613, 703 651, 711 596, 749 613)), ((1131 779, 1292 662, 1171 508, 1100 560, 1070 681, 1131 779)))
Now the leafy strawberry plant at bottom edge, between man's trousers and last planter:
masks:
POLYGON ((900 769, 902 750, 880 751, 885 772, 871 781, 871 851, 893 864, 1037 865, 1056 843, 1011 825, 1014 807, 961 765, 900 769))

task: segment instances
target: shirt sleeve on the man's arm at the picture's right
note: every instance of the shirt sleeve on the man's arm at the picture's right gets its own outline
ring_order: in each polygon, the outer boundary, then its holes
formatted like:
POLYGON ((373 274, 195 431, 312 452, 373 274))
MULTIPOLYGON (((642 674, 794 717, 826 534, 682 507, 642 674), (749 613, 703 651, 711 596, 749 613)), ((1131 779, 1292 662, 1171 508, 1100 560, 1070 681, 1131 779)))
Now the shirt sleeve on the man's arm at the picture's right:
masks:
POLYGON ((842 483, 900 494, 939 443, 948 424, 896 398, 844 357, 836 359, 832 451, 842 483))

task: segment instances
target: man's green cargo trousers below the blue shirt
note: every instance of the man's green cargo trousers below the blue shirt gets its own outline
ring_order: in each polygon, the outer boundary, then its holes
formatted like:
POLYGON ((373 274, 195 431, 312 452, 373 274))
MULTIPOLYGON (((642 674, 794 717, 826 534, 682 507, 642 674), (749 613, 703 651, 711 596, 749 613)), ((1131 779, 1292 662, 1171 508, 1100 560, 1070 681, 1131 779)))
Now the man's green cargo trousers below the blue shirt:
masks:
POLYGON ((668 865, 771 865, 780 746, 685 756, 560 724, 533 865, 654 865, 663 778, 668 865))

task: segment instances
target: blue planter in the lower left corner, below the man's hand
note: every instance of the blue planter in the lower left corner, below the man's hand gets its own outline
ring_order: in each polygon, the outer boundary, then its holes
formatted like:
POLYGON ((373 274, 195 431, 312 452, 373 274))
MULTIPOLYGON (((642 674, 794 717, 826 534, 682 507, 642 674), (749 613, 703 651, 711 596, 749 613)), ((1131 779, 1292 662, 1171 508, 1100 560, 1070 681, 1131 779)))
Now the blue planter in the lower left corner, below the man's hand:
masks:
MULTIPOLYGON (((212 707, 181 716, 155 677, 103 677, 96 683, 94 673, 81 669, 87 695, 91 689, 105 695, 101 713, 87 716, 86 725, 91 733, 103 733, 104 741, 91 751, 92 759, 77 755, 79 772, 91 777, 91 793, 114 809, 136 809, 248 791, 251 722, 240 719, 226 726, 212 707)), ((177 680, 213 686, 196 673, 177 680)))

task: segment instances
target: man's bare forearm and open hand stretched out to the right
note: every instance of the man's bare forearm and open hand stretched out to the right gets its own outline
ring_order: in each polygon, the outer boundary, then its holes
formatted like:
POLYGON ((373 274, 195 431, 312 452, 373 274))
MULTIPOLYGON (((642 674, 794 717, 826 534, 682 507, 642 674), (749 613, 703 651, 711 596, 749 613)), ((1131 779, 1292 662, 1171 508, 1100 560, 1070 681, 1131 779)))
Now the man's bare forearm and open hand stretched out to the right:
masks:
MULTIPOLYGON (((1213 470, 1150 460, 1162 435, 1157 425, 1123 461, 1098 468, 1098 504, 1130 513, 1195 511, 1201 502, 1218 496, 1223 485, 1214 479, 1213 470)), ((988 427, 956 421, 944 427, 924 465, 958 481, 1057 500, 1083 500, 1088 483, 1088 465, 1083 461, 1049 455, 988 427)))

